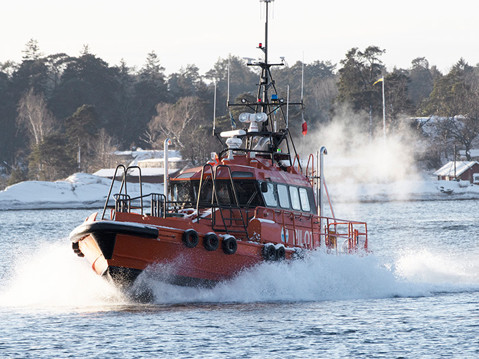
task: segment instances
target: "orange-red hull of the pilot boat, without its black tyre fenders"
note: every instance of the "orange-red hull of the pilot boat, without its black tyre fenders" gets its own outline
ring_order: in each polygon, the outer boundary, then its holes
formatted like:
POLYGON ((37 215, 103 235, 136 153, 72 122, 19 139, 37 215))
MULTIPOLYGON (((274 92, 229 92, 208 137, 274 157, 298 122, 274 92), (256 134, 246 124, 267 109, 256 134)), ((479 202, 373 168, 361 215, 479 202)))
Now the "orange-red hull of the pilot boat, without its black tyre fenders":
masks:
MULTIPOLYGON (((155 265, 161 265, 161 269, 164 269, 155 271, 161 280, 183 285, 211 285, 230 279, 242 269, 253 267, 264 260, 264 245, 253 241, 238 240, 235 252, 226 253, 222 242, 231 236, 218 235, 218 248, 207 250, 203 239, 211 233, 211 226, 175 217, 160 220, 134 213, 116 215, 116 222, 120 224, 140 222, 158 229, 157 238, 116 234, 111 239, 114 241, 111 256, 105 255, 96 233, 79 239, 79 251, 90 262, 92 269, 120 286, 129 287, 141 271, 155 265), (187 248, 182 239, 185 230, 190 228, 194 229, 199 237, 199 243, 194 248, 187 248)), ((285 252, 285 258, 290 258, 294 250, 286 249, 285 252)))

